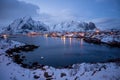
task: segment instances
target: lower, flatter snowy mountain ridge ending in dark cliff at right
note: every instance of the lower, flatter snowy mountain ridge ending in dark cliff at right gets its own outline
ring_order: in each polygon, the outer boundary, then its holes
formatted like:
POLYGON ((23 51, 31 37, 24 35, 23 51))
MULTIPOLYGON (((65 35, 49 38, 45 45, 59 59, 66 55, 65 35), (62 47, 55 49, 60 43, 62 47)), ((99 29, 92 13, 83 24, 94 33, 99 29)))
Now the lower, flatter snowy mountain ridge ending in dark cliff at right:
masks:
POLYGON ((92 22, 79 22, 79 21, 67 21, 60 24, 55 24, 52 27, 52 31, 89 31, 96 28, 92 22))

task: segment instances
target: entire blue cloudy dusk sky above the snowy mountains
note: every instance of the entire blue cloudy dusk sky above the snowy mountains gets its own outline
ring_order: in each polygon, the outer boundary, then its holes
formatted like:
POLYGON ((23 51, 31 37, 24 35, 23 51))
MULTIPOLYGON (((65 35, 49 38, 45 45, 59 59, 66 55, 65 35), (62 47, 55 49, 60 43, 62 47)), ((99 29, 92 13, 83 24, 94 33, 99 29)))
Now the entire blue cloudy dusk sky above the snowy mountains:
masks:
POLYGON ((118 26, 119 14, 120 0, 0 0, 0 25, 31 16, 44 22, 80 20, 118 26))

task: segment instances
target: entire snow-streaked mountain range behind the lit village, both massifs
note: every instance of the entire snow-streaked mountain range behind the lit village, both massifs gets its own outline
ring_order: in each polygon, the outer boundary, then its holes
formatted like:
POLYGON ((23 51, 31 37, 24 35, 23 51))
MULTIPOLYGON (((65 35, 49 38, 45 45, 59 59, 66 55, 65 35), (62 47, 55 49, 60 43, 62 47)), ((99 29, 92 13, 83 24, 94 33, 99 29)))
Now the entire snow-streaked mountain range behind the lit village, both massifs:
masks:
POLYGON ((23 17, 13 21, 9 26, 2 30, 2 33, 16 34, 41 31, 90 31, 96 28, 92 22, 64 21, 59 24, 48 26, 41 21, 34 21, 31 17, 23 17))

